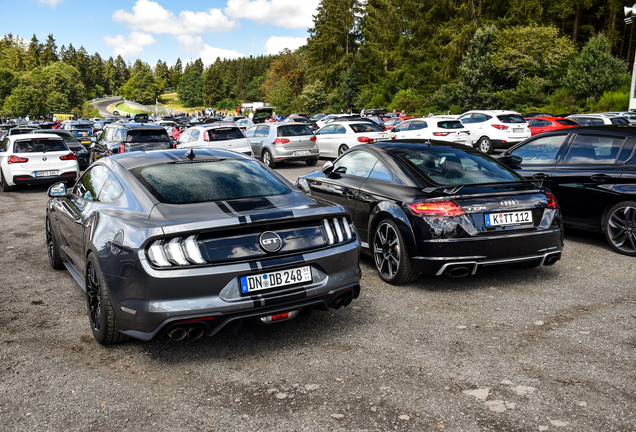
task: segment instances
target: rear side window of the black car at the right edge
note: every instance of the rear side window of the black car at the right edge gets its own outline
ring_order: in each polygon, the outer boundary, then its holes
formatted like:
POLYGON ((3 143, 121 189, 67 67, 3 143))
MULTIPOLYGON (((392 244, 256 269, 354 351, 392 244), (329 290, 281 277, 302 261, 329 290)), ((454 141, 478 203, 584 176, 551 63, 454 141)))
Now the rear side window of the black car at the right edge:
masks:
POLYGON ((624 142, 624 137, 578 134, 570 146, 565 163, 614 163, 624 142))

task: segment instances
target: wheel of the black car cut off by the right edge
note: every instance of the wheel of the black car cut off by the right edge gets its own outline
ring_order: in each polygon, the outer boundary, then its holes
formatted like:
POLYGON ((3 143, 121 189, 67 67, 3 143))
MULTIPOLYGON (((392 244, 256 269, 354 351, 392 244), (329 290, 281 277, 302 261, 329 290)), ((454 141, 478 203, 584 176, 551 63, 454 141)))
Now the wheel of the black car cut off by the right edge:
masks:
POLYGON ((636 256, 636 201, 624 201, 612 207, 603 228, 612 249, 636 256))

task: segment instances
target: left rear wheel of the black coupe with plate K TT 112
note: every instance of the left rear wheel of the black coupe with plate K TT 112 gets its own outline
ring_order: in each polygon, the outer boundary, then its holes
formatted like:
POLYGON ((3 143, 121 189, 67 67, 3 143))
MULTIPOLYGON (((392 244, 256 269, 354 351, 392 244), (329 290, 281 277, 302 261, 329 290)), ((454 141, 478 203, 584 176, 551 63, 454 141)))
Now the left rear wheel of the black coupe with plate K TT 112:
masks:
POLYGON ((373 231, 373 261, 380 278, 392 285, 415 281, 420 274, 411 270, 404 238, 392 219, 383 219, 373 231))

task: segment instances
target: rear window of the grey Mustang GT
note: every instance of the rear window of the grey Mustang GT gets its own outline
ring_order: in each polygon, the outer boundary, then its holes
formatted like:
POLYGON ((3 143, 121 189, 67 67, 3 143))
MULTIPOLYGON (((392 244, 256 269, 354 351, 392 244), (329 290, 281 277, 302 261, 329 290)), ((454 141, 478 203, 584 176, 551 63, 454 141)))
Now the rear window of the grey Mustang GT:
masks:
POLYGON ((192 204, 281 195, 290 189, 252 161, 220 160, 161 164, 132 170, 166 204, 192 204))

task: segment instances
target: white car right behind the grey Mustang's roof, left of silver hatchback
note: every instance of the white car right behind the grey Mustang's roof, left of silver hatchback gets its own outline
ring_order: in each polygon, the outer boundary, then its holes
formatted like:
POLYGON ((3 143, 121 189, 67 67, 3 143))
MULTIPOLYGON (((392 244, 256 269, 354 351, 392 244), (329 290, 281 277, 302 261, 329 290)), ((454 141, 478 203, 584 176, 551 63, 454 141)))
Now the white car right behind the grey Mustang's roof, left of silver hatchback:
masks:
POLYGON ((211 123, 187 129, 177 139, 177 148, 232 150, 254 156, 250 140, 236 125, 211 123))

